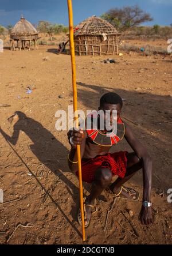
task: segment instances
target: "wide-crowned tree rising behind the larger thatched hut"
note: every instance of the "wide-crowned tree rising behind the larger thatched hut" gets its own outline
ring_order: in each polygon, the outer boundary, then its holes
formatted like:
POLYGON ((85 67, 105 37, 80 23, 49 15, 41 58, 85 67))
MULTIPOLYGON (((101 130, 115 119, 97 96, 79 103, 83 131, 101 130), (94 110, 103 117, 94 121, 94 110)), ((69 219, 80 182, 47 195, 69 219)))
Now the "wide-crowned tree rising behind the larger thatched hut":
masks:
POLYGON ((112 8, 104 13, 101 18, 110 22, 120 32, 153 20, 150 14, 144 12, 138 5, 126 6, 122 9, 112 8))

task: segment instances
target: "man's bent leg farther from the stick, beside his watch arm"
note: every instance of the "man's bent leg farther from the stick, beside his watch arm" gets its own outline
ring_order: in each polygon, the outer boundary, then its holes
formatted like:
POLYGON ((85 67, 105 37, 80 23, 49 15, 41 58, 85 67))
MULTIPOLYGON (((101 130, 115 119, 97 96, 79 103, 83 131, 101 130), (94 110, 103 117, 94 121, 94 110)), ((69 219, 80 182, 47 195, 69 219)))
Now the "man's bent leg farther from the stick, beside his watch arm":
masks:
MULTIPOLYGON (((115 193, 118 194, 121 190, 121 186, 126 183, 132 176, 135 175, 137 171, 142 169, 142 160, 135 155, 135 153, 128 153, 127 155, 127 171, 126 176, 122 178, 118 178, 115 180, 114 183, 110 186, 110 189, 115 193)), ((125 191, 122 191, 122 195, 126 198, 131 198, 131 195, 125 191)))

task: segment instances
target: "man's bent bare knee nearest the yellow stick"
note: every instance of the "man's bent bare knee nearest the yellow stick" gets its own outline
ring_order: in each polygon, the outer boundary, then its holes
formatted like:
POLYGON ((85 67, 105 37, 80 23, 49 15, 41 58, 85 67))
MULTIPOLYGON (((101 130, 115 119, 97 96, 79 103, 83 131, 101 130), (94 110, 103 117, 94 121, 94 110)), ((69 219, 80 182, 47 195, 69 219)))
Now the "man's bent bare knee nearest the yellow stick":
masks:
POLYGON ((95 180, 101 187, 107 187, 112 181, 112 171, 106 168, 98 168, 95 173, 95 180))

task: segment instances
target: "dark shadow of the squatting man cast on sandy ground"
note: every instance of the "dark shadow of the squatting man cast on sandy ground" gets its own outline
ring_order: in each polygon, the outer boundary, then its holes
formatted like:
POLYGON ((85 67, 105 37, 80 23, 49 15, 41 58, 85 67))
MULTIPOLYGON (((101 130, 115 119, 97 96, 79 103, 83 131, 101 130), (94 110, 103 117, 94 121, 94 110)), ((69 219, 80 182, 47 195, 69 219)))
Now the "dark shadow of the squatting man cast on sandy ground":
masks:
MULTIPOLYGON (((76 205, 72 206, 71 209, 71 215, 73 219, 76 220, 76 208, 79 207, 79 188, 63 174, 63 172, 69 172, 67 164, 68 149, 65 148, 65 146, 59 142, 52 133, 50 133, 50 131, 45 129, 41 123, 29 118, 20 111, 15 112, 14 116, 18 117, 18 121, 13 126, 13 134, 11 137, 7 135, 1 128, 0 133, 3 135, 6 141, 10 142, 12 145, 17 144, 20 131, 24 131, 24 133, 28 135, 30 140, 33 142, 32 145, 29 145, 30 150, 37 157, 37 159, 45 165, 45 167, 47 167, 50 171, 57 175, 62 182, 64 182, 68 193, 71 194, 73 201, 76 202, 76 205)), ((13 120, 13 117, 11 120, 13 120)), ((13 124, 13 122, 11 122, 11 124, 13 124)), ((29 157, 28 160, 30 160, 29 157)), ((87 184, 83 184, 83 187, 85 190, 90 191, 90 187, 87 184)))

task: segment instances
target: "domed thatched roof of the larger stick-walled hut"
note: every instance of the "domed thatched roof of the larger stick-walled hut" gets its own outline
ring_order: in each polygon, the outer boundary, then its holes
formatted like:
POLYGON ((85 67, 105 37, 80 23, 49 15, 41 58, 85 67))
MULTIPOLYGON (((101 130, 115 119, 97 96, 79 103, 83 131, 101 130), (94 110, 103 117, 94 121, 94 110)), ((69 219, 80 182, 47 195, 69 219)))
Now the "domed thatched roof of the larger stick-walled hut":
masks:
POLYGON ((113 25, 96 16, 87 18, 87 20, 77 25, 76 28, 78 28, 76 35, 102 35, 103 33, 107 35, 120 35, 113 25))

